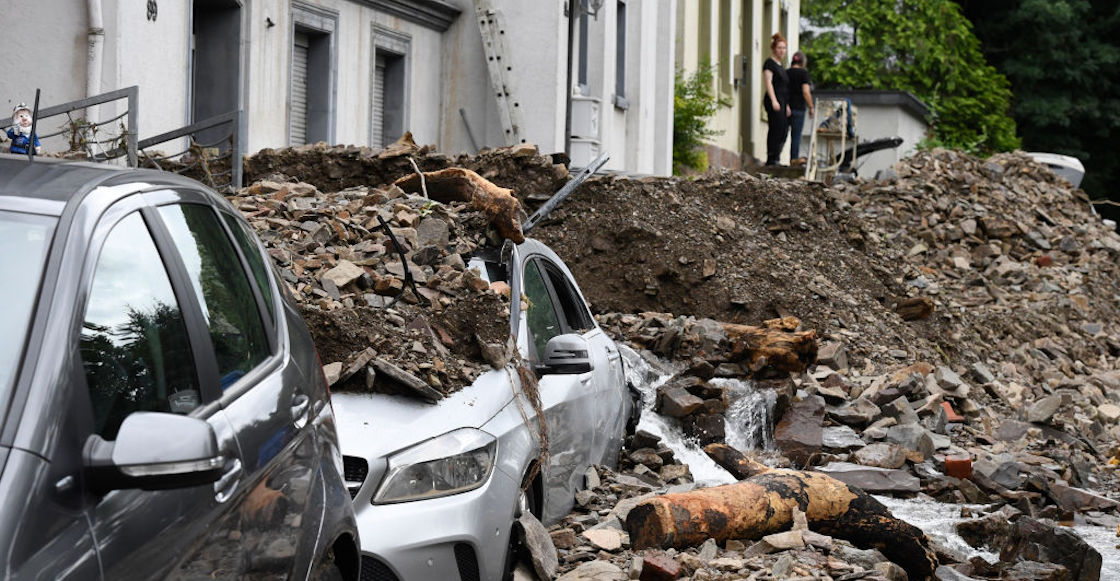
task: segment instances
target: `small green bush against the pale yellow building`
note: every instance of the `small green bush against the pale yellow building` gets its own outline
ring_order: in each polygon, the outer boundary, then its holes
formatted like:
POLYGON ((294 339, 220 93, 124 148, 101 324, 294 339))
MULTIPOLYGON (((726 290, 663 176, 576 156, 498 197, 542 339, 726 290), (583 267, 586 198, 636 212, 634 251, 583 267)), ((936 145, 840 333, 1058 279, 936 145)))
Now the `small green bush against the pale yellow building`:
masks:
POLYGON ((712 66, 708 63, 701 63, 697 72, 689 76, 682 71, 676 72, 673 95, 674 174, 684 169, 708 169, 703 142, 724 133, 708 128, 708 120, 716 114, 720 104, 725 104, 716 97, 712 78, 712 66))

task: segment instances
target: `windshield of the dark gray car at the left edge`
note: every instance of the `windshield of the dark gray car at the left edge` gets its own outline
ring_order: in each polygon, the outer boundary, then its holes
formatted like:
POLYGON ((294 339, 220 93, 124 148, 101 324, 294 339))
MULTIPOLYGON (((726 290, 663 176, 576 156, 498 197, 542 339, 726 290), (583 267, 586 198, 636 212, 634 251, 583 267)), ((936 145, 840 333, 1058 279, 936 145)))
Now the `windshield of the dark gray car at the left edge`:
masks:
POLYGON ((0 401, 11 390, 27 343, 31 310, 39 291, 55 218, 0 210, 0 401))

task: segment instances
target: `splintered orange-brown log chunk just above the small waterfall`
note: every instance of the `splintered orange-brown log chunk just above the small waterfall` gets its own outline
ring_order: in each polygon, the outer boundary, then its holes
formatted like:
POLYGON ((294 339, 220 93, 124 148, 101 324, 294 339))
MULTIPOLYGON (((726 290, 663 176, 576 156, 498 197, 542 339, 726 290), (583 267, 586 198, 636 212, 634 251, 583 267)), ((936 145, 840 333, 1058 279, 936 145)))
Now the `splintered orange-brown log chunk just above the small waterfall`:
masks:
POLYGON ((816 331, 797 331, 796 317, 763 321, 760 327, 724 324, 732 362, 746 362, 756 377, 799 374, 816 363, 816 331))

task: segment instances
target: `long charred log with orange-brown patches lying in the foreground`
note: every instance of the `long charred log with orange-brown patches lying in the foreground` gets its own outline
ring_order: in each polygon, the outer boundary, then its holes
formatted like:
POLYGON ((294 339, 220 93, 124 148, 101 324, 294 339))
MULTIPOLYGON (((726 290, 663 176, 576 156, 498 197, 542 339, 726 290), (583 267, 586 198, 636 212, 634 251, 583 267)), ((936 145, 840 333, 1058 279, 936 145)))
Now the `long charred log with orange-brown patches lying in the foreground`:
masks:
POLYGON ((920 528, 859 488, 819 472, 769 470, 732 485, 662 495, 635 506, 626 530, 634 549, 757 540, 790 528, 794 507, 805 513, 811 530, 878 549, 911 579, 927 579, 937 566, 920 528))

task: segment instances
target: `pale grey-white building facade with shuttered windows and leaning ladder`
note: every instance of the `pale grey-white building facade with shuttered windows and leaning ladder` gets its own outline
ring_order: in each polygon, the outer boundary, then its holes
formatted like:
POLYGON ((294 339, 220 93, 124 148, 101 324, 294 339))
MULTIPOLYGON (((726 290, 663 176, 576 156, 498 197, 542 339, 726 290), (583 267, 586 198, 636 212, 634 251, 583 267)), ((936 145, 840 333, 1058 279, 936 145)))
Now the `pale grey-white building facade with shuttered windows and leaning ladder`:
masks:
MULTIPOLYGON (((531 142, 569 151, 577 166, 605 151, 608 168, 671 171, 674 0, 0 6, 31 37, 53 39, 27 49, 17 35, 3 40, 8 110, 36 87, 46 106, 138 85, 141 139, 240 110, 245 152, 382 147, 411 131, 448 153, 531 142), (495 38, 502 46, 488 51, 495 38)), ((123 106, 102 105, 93 120, 123 106)))

